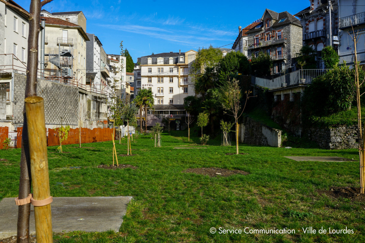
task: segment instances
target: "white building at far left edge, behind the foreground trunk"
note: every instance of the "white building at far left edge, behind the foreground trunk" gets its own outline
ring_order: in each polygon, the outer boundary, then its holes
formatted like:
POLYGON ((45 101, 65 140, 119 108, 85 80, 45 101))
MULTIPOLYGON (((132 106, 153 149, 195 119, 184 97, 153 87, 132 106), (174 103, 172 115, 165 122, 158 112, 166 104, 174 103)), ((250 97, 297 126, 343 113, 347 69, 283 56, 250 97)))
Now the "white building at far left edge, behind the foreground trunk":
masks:
MULTIPOLYGON (((23 9, 12 0, 7 2, 23 9)), ((17 9, 0 2, 0 69, 12 71, 11 65, 19 73, 26 73, 28 56, 28 17, 17 9), (4 55, 10 54, 10 55, 4 55)))

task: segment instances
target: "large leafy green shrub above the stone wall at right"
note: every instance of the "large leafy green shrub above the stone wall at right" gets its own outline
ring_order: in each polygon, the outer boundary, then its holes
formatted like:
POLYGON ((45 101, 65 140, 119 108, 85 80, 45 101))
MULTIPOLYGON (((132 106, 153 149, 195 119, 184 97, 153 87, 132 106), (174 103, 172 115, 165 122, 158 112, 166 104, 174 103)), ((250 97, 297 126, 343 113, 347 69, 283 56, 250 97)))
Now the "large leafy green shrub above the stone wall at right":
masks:
MULTIPOLYGON (((341 65, 315 78, 303 96, 303 113, 307 118, 323 117, 351 109, 355 97, 354 68, 341 65)), ((364 72, 361 76, 364 78, 364 72)))

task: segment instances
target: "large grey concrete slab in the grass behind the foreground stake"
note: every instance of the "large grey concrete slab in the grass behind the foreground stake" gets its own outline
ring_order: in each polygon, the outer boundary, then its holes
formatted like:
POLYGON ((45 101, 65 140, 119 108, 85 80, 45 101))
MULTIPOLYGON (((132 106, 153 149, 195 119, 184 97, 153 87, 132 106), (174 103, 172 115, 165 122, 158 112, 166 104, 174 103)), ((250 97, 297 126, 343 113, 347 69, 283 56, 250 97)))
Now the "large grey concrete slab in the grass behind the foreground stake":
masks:
MULTIPOLYGON (((51 203, 53 232, 119 231, 132 197, 54 197, 51 203)), ((0 239, 16 235, 18 206, 14 198, 0 202, 0 239)), ((31 206, 30 229, 35 234, 34 207, 31 206)))

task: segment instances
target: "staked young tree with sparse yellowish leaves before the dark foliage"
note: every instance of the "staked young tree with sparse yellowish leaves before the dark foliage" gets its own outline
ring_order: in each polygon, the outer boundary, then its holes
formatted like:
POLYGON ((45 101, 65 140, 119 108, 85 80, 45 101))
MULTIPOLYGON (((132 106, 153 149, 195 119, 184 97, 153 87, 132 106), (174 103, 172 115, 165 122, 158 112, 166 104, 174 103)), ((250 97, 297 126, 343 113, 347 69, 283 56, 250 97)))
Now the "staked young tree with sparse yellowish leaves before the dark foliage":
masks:
MULTIPOLYGON (((228 81, 222 88, 220 92, 220 101, 222 102, 222 106, 224 109, 229 111, 231 115, 234 117, 234 121, 236 124, 236 154, 238 154, 238 118, 241 117, 243 111, 245 110, 247 99, 249 98, 251 91, 245 91, 246 94, 246 101, 245 106, 243 106, 243 109, 241 113, 239 111, 241 110, 240 100, 242 97, 241 94, 241 88, 239 87, 239 83, 237 79, 233 79, 231 81, 228 81)), ((226 113, 226 112, 225 112, 226 113)))

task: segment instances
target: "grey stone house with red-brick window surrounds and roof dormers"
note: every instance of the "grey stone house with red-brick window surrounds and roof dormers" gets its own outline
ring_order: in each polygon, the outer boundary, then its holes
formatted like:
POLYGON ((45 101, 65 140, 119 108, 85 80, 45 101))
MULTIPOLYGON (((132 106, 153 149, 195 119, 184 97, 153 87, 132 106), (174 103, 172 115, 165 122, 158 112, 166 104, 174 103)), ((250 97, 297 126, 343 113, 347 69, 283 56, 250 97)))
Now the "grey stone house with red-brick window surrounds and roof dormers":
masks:
POLYGON ((302 47, 300 20, 285 12, 265 9, 261 22, 246 32, 248 56, 266 52, 273 60, 272 74, 295 69, 294 58, 302 47))

